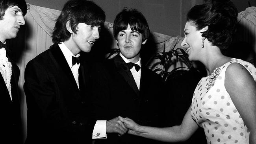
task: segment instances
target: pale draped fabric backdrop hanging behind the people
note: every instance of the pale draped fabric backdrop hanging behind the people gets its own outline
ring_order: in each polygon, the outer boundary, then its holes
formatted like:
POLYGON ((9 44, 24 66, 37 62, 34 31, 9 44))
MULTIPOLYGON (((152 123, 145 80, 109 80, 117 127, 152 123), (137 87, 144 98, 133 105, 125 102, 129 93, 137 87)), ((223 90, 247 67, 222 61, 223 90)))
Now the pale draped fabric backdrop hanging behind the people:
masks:
MULTIPOLYGON (((55 26, 55 20, 60 14, 60 11, 55 9, 48 9, 45 7, 34 6, 31 4, 27 4, 27 5, 28 5, 28 12, 24 17, 26 24, 20 28, 20 31, 15 39, 11 39, 7 41, 12 51, 11 57, 14 58, 14 60, 17 62, 17 65, 20 68, 19 87, 20 87, 20 92, 22 93, 21 116, 22 116, 22 123, 23 123, 24 140, 27 135, 27 123, 26 123, 27 107, 26 107, 26 97, 23 91, 24 70, 28 61, 33 59, 35 56, 37 56, 41 52, 44 52, 46 49, 49 48, 49 46, 53 44, 51 35, 52 35, 53 28, 55 26)), ((250 17, 254 17, 254 19, 252 18, 252 22, 251 20, 249 21, 247 20, 250 15, 247 13, 247 11, 241 14, 243 16, 241 16, 240 19, 247 18, 246 20, 244 20, 246 21, 244 23, 247 25, 247 27, 249 26, 249 30, 245 32, 245 35, 246 33, 250 32, 252 33, 252 35, 254 35, 254 39, 252 39, 251 37, 243 37, 243 38, 245 38, 246 41, 250 41, 251 43, 253 43, 254 51, 256 51, 255 7, 252 7, 252 9, 250 9, 250 13, 251 11, 254 11, 253 16, 250 16, 250 17)), ((106 37, 111 37, 110 38, 111 42, 108 42, 109 44, 111 44, 109 47, 118 48, 112 34, 113 23, 105 22, 104 27, 106 28, 106 31, 110 35, 104 36, 104 33, 103 33, 101 34, 101 39, 104 39, 106 37)), ((166 52, 173 47, 174 49, 180 48, 180 44, 182 42, 182 37, 180 36, 171 37, 169 35, 164 35, 157 32, 151 32, 151 35, 153 39, 151 41, 154 41, 156 52, 162 52, 164 46, 165 46, 166 52)), ((156 59, 152 61, 150 65, 154 65, 154 63, 159 63, 159 60, 156 59)), ((160 65, 157 65, 157 66, 162 68, 162 66, 160 65)), ((176 66, 186 67, 184 64, 179 63, 179 65, 172 66, 170 70, 174 69, 176 66)))

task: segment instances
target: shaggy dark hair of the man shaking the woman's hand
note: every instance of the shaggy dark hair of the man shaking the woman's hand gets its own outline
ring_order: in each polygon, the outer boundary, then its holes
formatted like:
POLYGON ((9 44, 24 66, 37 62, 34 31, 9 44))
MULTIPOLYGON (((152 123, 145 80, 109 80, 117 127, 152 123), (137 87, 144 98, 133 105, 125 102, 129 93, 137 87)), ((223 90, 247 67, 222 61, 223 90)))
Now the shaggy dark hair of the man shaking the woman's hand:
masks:
POLYGON ((70 21, 71 30, 76 34, 79 23, 103 26, 105 17, 105 12, 92 1, 69 0, 63 6, 61 14, 56 20, 52 42, 59 44, 70 38, 71 33, 66 28, 68 21, 70 21))

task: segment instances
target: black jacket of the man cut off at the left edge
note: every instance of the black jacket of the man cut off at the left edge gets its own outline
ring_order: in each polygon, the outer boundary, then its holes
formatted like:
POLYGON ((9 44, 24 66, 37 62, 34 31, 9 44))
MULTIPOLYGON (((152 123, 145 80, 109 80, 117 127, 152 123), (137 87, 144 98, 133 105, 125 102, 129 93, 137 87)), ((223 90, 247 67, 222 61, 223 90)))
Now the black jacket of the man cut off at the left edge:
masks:
POLYGON ((1 124, 0 129, 2 134, 0 135, 1 142, 7 142, 10 144, 22 144, 21 133, 21 118, 20 118, 20 95, 18 89, 18 81, 20 70, 19 67, 8 57, 12 65, 11 75, 11 97, 9 91, 4 82, 3 76, 0 73, 0 113, 1 124))

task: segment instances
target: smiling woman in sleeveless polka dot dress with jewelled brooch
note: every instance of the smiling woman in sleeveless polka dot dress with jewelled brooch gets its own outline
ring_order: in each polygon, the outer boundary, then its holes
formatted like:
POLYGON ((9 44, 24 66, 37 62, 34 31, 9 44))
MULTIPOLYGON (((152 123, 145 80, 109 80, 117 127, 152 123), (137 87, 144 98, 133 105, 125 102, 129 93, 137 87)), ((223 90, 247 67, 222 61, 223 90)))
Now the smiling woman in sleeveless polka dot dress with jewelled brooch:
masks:
POLYGON ((200 126, 208 144, 256 144, 256 68, 222 54, 236 25, 237 9, 230 0, 207 0, 192 7, 182 46, 189 60, 204 64, 208 76, 198 83, 180 126, 140 126, 119 116, 128 133, 178 142, 187 140, 200 126))

